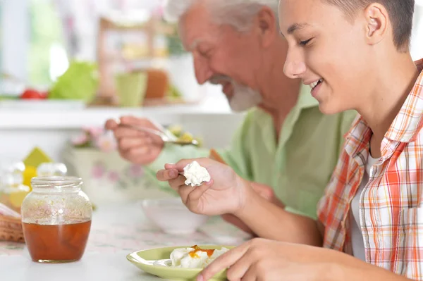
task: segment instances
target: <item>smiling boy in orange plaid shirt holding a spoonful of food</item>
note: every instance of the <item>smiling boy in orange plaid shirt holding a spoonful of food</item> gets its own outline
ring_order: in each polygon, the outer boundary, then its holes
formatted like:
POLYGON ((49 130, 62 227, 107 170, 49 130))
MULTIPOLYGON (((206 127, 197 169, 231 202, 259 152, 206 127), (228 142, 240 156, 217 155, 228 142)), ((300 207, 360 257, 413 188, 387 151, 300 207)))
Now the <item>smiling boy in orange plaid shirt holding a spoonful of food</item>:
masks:
POLYGON ((212 180, 194 189, 171 177, 192 160, 159 171, 190 210, 234 213, 261 237, 284 241, 247 242, 198 280, 224 268, 229 280, 423 280, 423 72, 409 51, 413 11, 412 0, 280 1, 286 75, 310 85, 323 113, 361 116, 317 221, 270 206, 207 159, 199 163, 212 180))

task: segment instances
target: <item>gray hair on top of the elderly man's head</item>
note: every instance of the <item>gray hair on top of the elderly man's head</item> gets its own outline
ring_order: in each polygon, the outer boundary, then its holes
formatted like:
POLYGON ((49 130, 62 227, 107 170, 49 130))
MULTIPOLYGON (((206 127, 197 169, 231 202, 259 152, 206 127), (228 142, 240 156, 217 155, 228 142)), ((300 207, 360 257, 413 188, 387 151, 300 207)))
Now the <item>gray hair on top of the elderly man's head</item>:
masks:
POLYGON ((216 24, 232 25, 240 32, 250 28, 252 18, 263 6, 271 8, 278 20, 278 0, 166 0, 164 18, 175 23, 199 2, 207 5, 216 24))

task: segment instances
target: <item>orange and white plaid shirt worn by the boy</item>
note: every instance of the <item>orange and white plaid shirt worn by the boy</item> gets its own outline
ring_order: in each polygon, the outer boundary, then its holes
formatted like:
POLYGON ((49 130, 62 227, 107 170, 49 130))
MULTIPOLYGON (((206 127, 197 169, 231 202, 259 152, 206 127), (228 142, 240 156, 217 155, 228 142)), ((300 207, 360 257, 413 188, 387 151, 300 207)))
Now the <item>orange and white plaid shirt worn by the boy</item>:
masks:
MULTIPOLYGON (((417 65, 423 60, 417 62, 417 65)), ((367 263, 423 280, 423 71, 381 143, 381 158, 360 196, 367 263)), ((324 247, 352 254, 351 201, 364 175, 372 137, 357 118, 319 202, 324 247)))

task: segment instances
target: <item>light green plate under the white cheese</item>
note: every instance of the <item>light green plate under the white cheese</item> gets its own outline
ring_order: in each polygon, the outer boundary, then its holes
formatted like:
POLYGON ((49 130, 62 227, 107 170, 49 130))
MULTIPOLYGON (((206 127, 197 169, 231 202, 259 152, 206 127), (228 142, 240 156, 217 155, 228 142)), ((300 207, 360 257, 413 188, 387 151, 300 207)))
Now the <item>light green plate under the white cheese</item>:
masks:
MULTIPOLYGON (((192 246, 192 245, 191 245, 192 246)), ((150 249, 144 251, 135 251, 126 256, 128 261, 133 263, 137 268, 144 270, 146 273, 156 275, 167 280, 195 281, 195 277, 201 272, 201 268, 171 268, 166 266, 153 266, 149 261, 168 259, 171 252, 177 248, 189 248, 191 246, 175 246, 167 248, 150 249)), ((232 249, 233 246, 208 245, 200 246, 202 249, 221 249, 222 247, 232 249)), ((226 280, 226 270, 214 276, 213 281, 226 280)))

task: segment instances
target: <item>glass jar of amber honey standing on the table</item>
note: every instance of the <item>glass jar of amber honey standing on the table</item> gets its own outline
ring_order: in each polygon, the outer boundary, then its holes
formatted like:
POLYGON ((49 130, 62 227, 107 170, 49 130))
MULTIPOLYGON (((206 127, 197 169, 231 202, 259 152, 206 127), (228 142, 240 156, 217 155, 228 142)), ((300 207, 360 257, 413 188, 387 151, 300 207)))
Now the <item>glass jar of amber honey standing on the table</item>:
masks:
POLYGON ((82 258, 90 235, 92 204, 78 177, 34 177, 21 208, 32 261, 66 263, 82 258))

